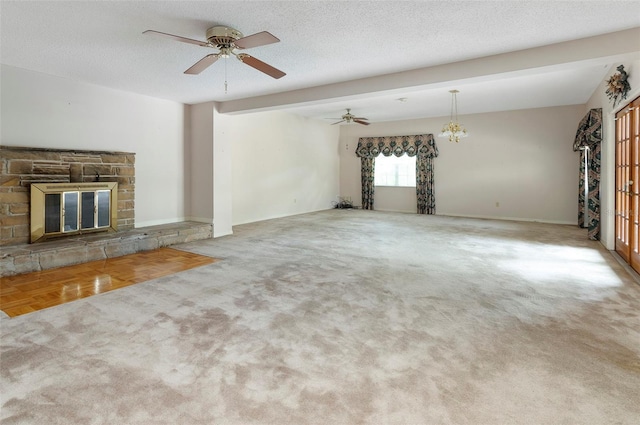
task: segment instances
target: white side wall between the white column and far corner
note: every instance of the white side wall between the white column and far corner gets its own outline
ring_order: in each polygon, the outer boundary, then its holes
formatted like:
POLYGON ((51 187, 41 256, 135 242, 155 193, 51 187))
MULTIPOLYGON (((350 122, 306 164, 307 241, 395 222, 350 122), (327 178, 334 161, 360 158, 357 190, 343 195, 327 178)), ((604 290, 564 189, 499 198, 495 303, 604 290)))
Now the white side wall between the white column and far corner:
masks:
POLYGON ((232 146, 233 224, 332 208, 339 194, 339 129, 284 112, 216 118, 232 146))

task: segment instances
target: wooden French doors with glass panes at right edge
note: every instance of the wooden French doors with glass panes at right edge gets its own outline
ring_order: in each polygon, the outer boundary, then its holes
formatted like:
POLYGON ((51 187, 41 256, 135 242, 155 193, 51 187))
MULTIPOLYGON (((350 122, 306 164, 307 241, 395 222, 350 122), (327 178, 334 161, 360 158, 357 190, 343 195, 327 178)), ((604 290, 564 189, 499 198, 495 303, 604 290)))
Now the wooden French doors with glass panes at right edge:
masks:
POLYGON ((640 97, 616 114, 616 252, 640 273, 640 97))

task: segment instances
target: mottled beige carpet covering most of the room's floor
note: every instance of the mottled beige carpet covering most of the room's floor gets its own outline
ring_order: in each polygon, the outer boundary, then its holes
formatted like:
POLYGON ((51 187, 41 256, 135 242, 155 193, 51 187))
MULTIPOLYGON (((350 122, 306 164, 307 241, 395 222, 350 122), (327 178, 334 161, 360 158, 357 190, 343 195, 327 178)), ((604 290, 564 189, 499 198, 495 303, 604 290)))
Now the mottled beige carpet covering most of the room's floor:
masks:
POLYGON ((2 424, 637 424, 640 285, 573 226, 331 210, 2 319, 2 424))

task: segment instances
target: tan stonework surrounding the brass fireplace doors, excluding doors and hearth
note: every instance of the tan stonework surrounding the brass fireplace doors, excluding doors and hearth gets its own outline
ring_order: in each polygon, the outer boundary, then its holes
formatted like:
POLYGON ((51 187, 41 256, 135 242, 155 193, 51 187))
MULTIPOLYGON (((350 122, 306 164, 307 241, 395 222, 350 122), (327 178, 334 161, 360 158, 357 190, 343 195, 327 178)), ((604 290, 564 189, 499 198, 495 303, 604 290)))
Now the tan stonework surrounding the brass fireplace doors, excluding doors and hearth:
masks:
POLYGON ((118 182, 118 231, 135 227, 135 154, 0 146, 0 245, 29 242, 31 183, 118 182))

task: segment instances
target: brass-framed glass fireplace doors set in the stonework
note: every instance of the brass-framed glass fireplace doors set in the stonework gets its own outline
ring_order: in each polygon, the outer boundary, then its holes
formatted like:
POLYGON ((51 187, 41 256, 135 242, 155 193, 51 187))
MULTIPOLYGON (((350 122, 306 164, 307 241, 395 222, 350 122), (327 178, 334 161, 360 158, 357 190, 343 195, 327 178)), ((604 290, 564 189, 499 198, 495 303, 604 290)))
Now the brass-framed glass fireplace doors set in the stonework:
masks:
POLYGON ((117 182, 31 184, 31 243, 117 230, 117 182), (90 205, 84 205, 85 202, 90 205))

